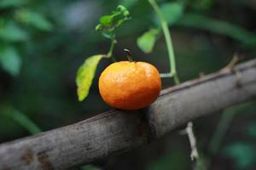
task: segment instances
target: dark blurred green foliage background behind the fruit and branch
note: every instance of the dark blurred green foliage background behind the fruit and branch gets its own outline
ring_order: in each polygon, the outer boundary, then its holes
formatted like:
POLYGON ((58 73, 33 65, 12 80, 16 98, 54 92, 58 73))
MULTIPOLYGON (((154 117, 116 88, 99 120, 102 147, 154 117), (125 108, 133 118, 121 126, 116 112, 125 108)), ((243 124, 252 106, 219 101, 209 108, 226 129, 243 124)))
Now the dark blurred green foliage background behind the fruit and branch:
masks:
MULTIPOLYGON (((255 59, 255 0, 158 1, 160 6, 172 2, 184 4, 180 17, 169 23, 182 82, 222 69, 236 53, 241 62, 255 59)), ((102 59, 84 102, 77 99, 75 77, 84 59, 108 53, 109 40, 95 26, 102 14, 119 4, 130 10, 132 19, 117 31, 114 56, 125 59, 123 48, 129 48, 133 59, 168 71, 163 36, 152 54, 137 47, 137 38, 157 23, 146 0, 0 1, 0 143, 37 133, 38 127, 47 131, 111 109, 97 88, 97 78, 110 60, 102 59)), ((166 17, 172 14, 165 11, 166 17)), ((163 82, 163 88, 173 85, 170 79, 163 82)), ((202 117, 194 127, 207 169, 256 169, 255 100, 202 117)), ((189 155, 188 137, 177 130, 143 148, 112 156, 100 168, 193 169, 189 155)))

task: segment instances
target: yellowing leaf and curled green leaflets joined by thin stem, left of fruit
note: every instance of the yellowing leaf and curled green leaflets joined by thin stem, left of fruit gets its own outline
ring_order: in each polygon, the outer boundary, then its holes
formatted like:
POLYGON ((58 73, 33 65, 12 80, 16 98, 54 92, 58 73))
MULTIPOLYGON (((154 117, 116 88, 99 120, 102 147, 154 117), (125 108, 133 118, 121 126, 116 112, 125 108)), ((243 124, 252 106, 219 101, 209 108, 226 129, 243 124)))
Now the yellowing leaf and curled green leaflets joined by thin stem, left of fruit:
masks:
MULTIPOLYGON (((104 37, 110 38, 112 44, 115 40, 115 29, 121 26, 125 20, 130 20, 130 12, 119 5, 112 14, 104 15, 100 18, 99 24, 96 26, 96 31, 101 31, 104 37)), ((108 54, 112 54, 113 46, 110 48, 108 54)), ((96 67, 103 57, 111 57, 108 54, 96 54, 85 59, 84 64, 80 66, 76 77, 76 84, 78 86, 79 101, 83 101, 89 94, 90 86, 95 77, 96 67)))

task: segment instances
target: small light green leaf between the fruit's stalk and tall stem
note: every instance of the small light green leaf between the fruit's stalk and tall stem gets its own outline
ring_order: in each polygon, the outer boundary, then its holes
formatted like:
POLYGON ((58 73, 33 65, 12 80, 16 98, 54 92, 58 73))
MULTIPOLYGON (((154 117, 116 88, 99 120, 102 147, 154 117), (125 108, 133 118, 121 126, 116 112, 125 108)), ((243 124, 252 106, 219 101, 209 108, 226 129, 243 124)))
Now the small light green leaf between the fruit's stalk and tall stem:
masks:
POLYGON ((137 46, 141 48, 144 53, 151 53, 159 33, 160 31, 158 29, 150 29, 143 33, 141 37, 137 38, 137 46))

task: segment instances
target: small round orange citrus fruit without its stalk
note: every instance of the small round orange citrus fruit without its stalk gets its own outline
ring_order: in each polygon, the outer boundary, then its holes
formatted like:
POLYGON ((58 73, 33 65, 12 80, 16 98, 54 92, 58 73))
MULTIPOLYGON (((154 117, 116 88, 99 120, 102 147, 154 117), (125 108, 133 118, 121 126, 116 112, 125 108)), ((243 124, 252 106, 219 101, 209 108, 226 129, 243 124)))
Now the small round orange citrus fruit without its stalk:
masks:
POLYGON ((119 61, 108 65, 99 78, 102 99, 115 108, 137 110, 160 94, 160 73, 146 62, 119 61))

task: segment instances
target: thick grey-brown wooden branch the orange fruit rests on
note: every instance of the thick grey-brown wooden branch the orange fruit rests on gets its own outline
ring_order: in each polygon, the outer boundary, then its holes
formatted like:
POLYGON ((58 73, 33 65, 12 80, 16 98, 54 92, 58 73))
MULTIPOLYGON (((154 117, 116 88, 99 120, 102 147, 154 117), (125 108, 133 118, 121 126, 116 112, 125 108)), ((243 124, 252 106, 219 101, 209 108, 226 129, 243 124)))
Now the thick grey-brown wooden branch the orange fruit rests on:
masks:
POLYGON ((0 144, 0 169, 67 169, 134 149, 199 116, 256 97, 256 59, 163 90, 140 111, 113 110, 0 144))

